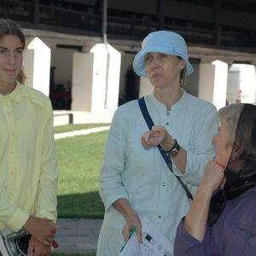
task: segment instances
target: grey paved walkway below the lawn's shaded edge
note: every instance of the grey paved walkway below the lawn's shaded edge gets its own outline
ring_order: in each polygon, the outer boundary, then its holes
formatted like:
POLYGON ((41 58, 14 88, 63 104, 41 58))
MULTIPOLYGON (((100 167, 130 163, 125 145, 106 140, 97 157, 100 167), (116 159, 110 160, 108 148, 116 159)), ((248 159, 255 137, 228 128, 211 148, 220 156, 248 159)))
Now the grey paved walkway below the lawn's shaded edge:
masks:
POLYGON ((102 219, 59 218, 57 224, 56 253, 96 253, 102 219))

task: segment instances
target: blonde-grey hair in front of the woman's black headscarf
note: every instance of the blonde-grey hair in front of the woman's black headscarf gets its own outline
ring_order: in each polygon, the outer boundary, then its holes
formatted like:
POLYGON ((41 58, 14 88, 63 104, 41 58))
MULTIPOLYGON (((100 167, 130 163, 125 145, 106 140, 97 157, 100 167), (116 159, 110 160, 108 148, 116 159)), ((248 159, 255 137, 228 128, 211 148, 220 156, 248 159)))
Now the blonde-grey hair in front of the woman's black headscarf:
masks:
POLYGON ((228 130, 228 146, 233 147, 236 139, 236 125, 240 118, 243 103, 230 104, 224 108, 218 110, 218 120, 226 125, 228 130))

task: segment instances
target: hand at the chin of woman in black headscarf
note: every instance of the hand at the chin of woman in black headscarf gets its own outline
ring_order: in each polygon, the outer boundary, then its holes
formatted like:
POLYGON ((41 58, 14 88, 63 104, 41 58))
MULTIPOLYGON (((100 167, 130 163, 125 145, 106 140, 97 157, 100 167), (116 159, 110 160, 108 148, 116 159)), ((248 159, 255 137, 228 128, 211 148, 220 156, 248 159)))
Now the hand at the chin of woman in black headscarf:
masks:
POLYGON ((213 193, 219 187, 223 188, 224 183, 224 167, 218 165, 218 163, 214 160, 208 162, 200 187, 210 189, 210 191, 213 193))

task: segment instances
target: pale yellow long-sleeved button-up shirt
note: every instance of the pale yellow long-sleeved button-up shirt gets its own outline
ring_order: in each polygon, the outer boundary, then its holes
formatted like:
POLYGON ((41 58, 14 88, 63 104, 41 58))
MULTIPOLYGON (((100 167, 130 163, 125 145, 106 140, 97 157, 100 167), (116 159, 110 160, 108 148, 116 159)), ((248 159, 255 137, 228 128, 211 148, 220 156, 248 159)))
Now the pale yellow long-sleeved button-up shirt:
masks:
POLYGON ((49 98, 17 83, 0 94, 0 230, 56 219, 58 167, 49 98))

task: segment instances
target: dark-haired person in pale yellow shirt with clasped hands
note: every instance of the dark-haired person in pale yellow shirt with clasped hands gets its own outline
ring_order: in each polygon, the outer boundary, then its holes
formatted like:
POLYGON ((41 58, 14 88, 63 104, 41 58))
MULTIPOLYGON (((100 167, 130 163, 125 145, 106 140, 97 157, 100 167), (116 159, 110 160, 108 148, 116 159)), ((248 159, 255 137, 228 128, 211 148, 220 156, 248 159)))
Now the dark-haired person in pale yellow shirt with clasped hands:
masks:
POLYGON ((55 237, 58 167, 49 98, 27 87, 25 36, 0 20, 0 230, 31 234, 27 253, 49 255, 55 237))

